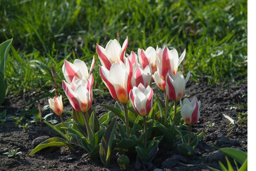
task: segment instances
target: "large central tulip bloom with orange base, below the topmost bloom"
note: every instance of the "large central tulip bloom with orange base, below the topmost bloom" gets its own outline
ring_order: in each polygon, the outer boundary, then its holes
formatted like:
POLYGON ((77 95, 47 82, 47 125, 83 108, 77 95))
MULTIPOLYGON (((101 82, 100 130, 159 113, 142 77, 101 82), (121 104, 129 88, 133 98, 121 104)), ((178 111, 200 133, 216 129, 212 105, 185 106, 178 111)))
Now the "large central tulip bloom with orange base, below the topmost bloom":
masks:
POLYGON ((116 101, 126 103, 129 100, 131 90, 132 64, 128 58, 111 65, 110 70, 104 66, 99 67, 99 73, 104 84, 116 101))

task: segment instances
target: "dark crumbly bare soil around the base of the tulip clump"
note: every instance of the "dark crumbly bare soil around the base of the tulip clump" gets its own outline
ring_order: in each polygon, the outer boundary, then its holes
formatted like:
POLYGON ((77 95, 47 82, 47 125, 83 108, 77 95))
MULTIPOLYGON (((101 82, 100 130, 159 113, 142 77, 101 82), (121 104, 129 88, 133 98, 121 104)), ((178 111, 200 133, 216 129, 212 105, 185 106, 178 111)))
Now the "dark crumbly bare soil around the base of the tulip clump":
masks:
MULTIPOLYGON (((244 122, 238 117, 239 112, 247 111, 247 82, 240 85, 228 84, 222 87, 209 87, 206 82, 191 83, 186 88, 186 96, 191 99, 197 96, 201 100, 201 116, 199 123, 193 125, 192 132, 205 134, 195 149, 197 154, 193 157, 180 156, 176 148, 165 149, 160 147, 152 161, 152 167, 162 168, 166 171, 200 171, 207 166, 219 168, 218 161, 224 163, 224 154, 218 148, 232 147, 247 151, 247 117, 244 122), (239 105, 239 106, 233 106, 239 105), (226 114, 233 118, 238 125, 228 124, 224 118, 226 114)), ((26 99, 26 98, 25 98, 26 99)), ((0 111, 7 109, 7 113, 14 113, 23 108, 27 101, 24 98, 12 97, 6 99, 0 111), (13 103, 15 102, 15 103, 13 103)), ((98 104, 114 104, 110 95, 96 95, 93 106, 96 114, 101 116, 107 110, 98 104)), ((47 99, 41 100, 41 104, 47 104, 47 99)), ((67 103, 68 104, 68 103, 67 103)), ((67 105, 69 106, 69 104, 67 105)), ((28 108, 31 108, 27 107, 28 108)), ((66 110, 70 110, 67 107, 66 110)), ((44 113, 47 114, 46 112, 44 113)), ((64 119, 70 116, 64 114, 64 119)), ((56 120, 59 119, 56 117, 56 120)), ((5 128, 0 126, 0 170, 19 171, 119 171, 121 168, 116 162, 116 151, 112 152, 111 165, 106 168, 100 161, 91 162, 85 151, 77 148, 71 153, 67 148, 46 148, 32 157, 28 154, 34 146, 34 139, 41 136, 58 136, 46 125, 32 125, 27 131, 23 131, 15 125, 15 122, 6 122, 5 128), (19 159, 3 155, 4 152, 20 148, 22 154, 19 159)), ((130 156, 130 168, 136 171, 136 156, 130 156)))

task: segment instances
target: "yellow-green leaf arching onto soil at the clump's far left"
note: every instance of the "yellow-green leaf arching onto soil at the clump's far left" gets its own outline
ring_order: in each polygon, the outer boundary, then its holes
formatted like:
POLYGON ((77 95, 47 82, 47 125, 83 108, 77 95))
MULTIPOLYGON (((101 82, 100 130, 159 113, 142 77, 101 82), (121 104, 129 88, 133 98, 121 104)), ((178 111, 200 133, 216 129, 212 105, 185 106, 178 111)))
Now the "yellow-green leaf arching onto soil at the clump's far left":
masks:
MULTIPOLYGON (((33 151, 31 151, 29 156, 32 156, 33 154, 42 150, 43 148, 53 147, 53 146, 64 146, 64 145, 68 145, 65 139, 62 139, 59 137, 49 138, 46 141, 41 142, 38 146, 36 146, 35 149, 33 151)), ((70 146, 70 145, 68 145, 68 146, 70 146)))

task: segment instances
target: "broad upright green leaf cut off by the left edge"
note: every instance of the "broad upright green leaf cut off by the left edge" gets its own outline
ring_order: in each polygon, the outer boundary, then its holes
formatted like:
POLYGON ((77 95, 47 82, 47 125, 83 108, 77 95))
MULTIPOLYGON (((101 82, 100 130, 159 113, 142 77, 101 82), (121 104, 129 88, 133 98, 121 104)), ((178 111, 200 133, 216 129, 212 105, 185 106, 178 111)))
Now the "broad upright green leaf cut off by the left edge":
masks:
POLYGON ((7 93, 7 80, 5 78, 6 58, 12 45, 12 39, 0 44, 0 105, 3 104, 7 93))

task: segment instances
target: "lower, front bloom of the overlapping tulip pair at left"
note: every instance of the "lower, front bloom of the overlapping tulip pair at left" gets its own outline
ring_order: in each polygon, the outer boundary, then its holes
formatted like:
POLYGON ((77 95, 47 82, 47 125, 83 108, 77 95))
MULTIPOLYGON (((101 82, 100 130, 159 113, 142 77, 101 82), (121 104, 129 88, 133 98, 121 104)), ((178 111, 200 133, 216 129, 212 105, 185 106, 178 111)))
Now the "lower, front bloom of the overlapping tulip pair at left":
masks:
POLYGON ((70 84, 62 80, 62 86, 76 111, 85 113, 90 109, 93 103, 93 74, 89 79, 79 79, 75 76, 70 84))

